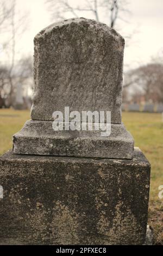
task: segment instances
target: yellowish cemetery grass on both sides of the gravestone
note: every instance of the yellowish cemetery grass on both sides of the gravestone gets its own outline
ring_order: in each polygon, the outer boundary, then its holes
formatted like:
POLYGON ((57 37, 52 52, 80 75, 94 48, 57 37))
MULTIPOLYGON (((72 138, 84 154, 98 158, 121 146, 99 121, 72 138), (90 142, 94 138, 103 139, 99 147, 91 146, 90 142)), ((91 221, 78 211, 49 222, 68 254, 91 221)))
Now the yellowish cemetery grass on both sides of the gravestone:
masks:
MULTIPOLYGON (((12 135, 29 119, 29 111, 0 109, 0 155, 12 147, 12 135)), ((151 191, 148 223, 154 229, 154 243, 163 245, 163 199, 159 186, 163 185, 163 120, 159 113, 122 113, 123 123, 151 162, 151 191)))

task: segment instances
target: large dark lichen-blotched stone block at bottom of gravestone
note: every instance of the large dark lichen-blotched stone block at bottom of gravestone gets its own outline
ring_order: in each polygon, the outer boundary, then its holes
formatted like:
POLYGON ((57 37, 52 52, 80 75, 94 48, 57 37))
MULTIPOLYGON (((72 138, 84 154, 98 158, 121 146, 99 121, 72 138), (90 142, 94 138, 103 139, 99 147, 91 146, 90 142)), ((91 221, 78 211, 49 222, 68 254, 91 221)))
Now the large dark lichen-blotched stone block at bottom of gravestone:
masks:
POLYGON ((0 241, 21 245, 142 245, 150 164, 15 155, 0 158, 0 241))

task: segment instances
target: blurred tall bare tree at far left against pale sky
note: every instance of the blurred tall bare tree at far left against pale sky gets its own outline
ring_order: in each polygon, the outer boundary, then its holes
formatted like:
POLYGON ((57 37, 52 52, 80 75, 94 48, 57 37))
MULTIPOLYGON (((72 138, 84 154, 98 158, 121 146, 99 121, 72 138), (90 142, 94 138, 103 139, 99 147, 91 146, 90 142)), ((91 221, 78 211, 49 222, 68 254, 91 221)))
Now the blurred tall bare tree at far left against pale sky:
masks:
POLYGON ((4 63, 1 61, 1 67, 5 66, 5 98, 8 97, 8 106, 11 106, 15 93, 15 83, 17 82, 16 68, 18 60, 16 59, 16 46, 20 36, 26 31, 28 14, 18 15, 16 10, 16 0, 3 1, 3 5, 1 5, 0 8, 0 14, 0 22, 2 21, 0 23, 0 28, 3 25, 3 29, 0 29, 0 33, 5 33, 3 41, 3 52, 5 56, 2 59, 4 63), (7 64, 5 64, 6 59, 8 59, 7 64))

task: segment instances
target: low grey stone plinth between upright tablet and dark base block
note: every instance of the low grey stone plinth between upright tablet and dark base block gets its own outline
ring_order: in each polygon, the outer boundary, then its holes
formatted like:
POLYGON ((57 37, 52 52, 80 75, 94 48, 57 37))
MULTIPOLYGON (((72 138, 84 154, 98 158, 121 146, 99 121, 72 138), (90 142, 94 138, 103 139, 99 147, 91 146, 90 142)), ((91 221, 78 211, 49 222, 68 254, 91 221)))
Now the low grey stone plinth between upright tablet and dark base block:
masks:
MULTIPOLYGON (((15 154, 132 159, 134 139, 123 124, 111 124, 110 136, 101 131, 54 131, 52 121, 29 120, 13 136, 15 154)), ((106 125, 106 124, 105 124, 106 125)))

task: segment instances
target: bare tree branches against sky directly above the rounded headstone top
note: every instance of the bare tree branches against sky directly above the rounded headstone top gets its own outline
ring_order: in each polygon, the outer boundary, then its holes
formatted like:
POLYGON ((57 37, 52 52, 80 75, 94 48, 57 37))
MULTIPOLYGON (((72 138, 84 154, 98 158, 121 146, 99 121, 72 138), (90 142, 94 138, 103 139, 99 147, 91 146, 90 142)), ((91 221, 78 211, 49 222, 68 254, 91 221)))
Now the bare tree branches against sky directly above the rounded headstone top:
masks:
POLYGON ((116 20, 121 11, 126 11, 124 0, 85 0, 79 5, 71 4, 68 0, 46 0, 49 9, 52 12, 52 17, 58 20, 63 20, 67 15, 79 17, 87 12, 97 21, 102 21, 102 16, 106 13, 110 27, 115 27, 116 20))

